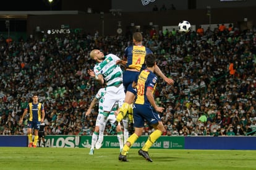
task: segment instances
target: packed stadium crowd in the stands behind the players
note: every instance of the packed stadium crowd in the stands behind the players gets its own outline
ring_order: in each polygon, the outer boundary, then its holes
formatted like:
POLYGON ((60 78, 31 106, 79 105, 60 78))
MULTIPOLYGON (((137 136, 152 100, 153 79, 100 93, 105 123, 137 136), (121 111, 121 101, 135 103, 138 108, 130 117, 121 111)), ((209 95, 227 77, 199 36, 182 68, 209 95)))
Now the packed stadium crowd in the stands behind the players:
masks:
MULTIPOLYGON (((164 30, 143 37, 175 81, 169 86, 159 79, 155 91, 166 108, 163 135, 255 134, 255 28, 216 27, 202 35, 164 30)), ((95 64, 89 53, 101 49, 122 57, 131 43, 132 33, 100 37, 83 31, 8 43, 0 38, 0 135, 27 134, 27 119, 18 122, 33 93, 45 106, 46 135, 92 135, 98 108, 85 113, 101 86, 87 74, 95 64)), ((110 124, 105 134, 114 134, 110 124)))

